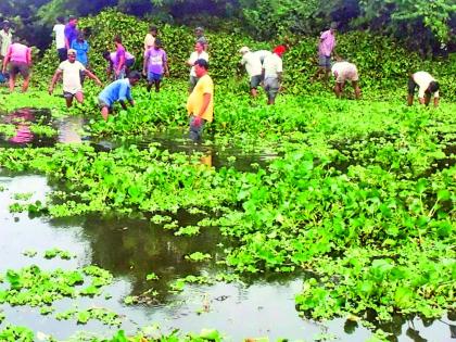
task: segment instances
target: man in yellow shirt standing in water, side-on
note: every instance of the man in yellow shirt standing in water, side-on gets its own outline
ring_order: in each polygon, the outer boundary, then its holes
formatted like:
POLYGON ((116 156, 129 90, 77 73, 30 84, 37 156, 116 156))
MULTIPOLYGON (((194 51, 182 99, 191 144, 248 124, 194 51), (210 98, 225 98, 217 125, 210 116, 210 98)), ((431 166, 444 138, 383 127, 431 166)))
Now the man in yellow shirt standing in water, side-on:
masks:
POLYGON ((187 100, 187 112, 190 116, 190 139, 198 141, 203 134, 204 124, 214 118, 214 83, 207 75, 208 64, 200 59, 194 62, 198 83, 187 100))

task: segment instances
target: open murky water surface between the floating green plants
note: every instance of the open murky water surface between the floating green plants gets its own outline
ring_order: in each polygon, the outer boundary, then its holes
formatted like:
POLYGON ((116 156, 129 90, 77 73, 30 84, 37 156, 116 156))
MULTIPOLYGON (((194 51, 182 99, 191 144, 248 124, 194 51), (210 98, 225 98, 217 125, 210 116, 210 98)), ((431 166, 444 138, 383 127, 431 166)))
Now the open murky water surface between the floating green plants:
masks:
MULTIPOLYGON (((58 140, 80 142, 84 140, 80 136, 83 124, 77 117, 54 123, 59 128, 58 140)), ((24 121, 20 125, 24 126, 24 121)), ((18 127, 17 138, 8 143, 34 143, 35 138, 26 142, 17 141, 22 138, 29 139, 26 138, 27 135, 24 128, 18 127), (22 132, 18 132, 20 129, 22 132)), ((185 139, 176 143, 169 137, 161 136, 152 141, 161 142, 173 152, 190 153, 194 149, 194 144, 186 142, 185 139)), ((115 143, 111 148, 113 147, 115 148, 115 143)), ((208 163, 216 167, 232 163, 227 160, 228 156, 237 156, 236 151, 230 149, 214 145, 203 145, 200 149, 210 152, 208 163)), ((235 163, 235 166, 249 169, 252 162, 267 163, 274 156, 274 153, 238 155, 238 164, 235 163)), ((203 328, 214 328, 226 333, 228 340, 232 341, 241 341, 249 337, 268 337, 271 340, 312 340, 327 337, 335 341, 365 341, 371 335, 368 329, 344 318, 327 322, 301 318, 294 307, 294 295, 301 291, 302 278, 305 275, 262 275, 242 279, 243 283, 191 284, 180 293, 169 292, 169 284, 177 278, 188 275, 215 275, 224 270, 217 264, 217 259, 221 257, 224 248, 229 245, 230 241, 220 237, 216 228, 204 228, 201 235, 189 238, 176 237, 173 231, 164 230, 149 220, 98 216, 33 218, 26 213, 11 214, 9 205, 17 202, 13 199, 14 193, 33 192, 29 202, 45 201, 46 193, 51 189, 46 177, 11 175, 3 170, 0 172, 0 187, 4 188, 0 192, 0 273, 30 264, 43 269, 73 269, 94 264, 110 270, 115 277, 115 281, 106 287, 100 296, 56 302, 53 305, 56 313, 75 305, 79 309, 105 307, 122 315, 122 328, 129 332, 156 322, 163 331, 177 328, 186 332, 199 332, 203 328), (75 258, 46 259, 45 251, 52 248, 69 251, 75 258), (25 256, 23 252, 26 250, 35 250, 38 254, 35 257, 25 256), (210 253, 212 261, 191 263, 185 259, 185 255, 195 251, 210 253), (152 271, 160 280, 145 280, 147 275, 152 271), (151 288, 159 292, 153 300, 136 305, 124 304, 125 296, 140 295, 151 288), (106 294, 111 296, 106 299, 106 294)), ((198 216, 185 212, 178 213, 175 218, 181 226, 192 225, 199 219, 198 216)), ((106 335, 115 331, 115 328, 102 326, 93 320, 87 325, 77 325, 74 320, 59 321, 53 315, 42 316, 37 308, 28 306, 0 305, 0 309, 4 311, 7 321, 51 333, 58 339, 66 339, 80 330, 106 335)), ((454 315, 431 321, 397 316, 393 322, 381 328, 393 333, 391 341, 456 341, 454 315)))

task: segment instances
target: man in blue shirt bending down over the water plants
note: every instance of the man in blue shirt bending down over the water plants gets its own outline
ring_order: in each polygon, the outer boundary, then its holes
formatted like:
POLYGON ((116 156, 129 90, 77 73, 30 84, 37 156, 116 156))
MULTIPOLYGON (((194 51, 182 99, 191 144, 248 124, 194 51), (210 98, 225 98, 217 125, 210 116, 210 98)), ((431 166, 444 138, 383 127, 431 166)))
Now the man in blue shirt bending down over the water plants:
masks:
POLYGON ((104 121, 107 121, 107 116, 112 113, 114 102, 121 102, 122 107, 126 111, 127 100, 130 105, 135 105, 135 101, 131 98, 131 87, 135 86, 141 75, 138 72, 131 72, 128 74, 127 78, 117 79, 104 88, 98 96, 98 103, 101 109, 101 116, 104 121))

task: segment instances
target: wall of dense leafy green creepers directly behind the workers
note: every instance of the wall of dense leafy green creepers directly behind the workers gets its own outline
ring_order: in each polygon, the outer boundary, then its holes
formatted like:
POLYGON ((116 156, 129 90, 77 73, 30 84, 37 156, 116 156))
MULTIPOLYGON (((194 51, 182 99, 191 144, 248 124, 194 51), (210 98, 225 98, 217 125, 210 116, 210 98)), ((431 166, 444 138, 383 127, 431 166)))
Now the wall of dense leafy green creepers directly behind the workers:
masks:
MULTIPOLYGON (((142 41, 148 31, 148 23, 114 11, 103 12, 94 17, 85 18, 80 27, 92 31, 89 38, 92 51, 89 59, 98 75, 103 75, 106 67, 101 52, 114 50, 113 37, 121 34, 128 51, 138 58, 137 67, 142 67, 142 41)), ((186 61, 193 49, 192 29, 183 26, 164 25, 161 27, 161 38, 169 56, 172 77, 187 79, 186 61)), ((238 80, 239 49, 246 45, 252 49, 271 49, 273 43, 254 41, 245 36, 233 33, 218 31, 207 34, 210 40, 211 76, 217 80, 238 80)), ((398 42, 381 36, 365 33, 339 35, 338 53, 357 64, 360 73, 362 88, 367 98, 380 94, 396 93, 405 97, 406 81, 410 73, 428 71, 441 83, 443 98, 456 99, 456 55, 448 61, 422 60, 417 54, 409 53, 398 42), (397 91, 397 92, 395 92, 397 91)), ((317 68, 316 45, 314 37, 287 36, 279 42, 287 41, 289 51, 284 54, 284 88, 292 93, 314 93, 322 90, 319 84, 309 79, 317 68)), ((50 77, 58 65, 56 53, 48 50, 40 65, 39 75, 50 77)))

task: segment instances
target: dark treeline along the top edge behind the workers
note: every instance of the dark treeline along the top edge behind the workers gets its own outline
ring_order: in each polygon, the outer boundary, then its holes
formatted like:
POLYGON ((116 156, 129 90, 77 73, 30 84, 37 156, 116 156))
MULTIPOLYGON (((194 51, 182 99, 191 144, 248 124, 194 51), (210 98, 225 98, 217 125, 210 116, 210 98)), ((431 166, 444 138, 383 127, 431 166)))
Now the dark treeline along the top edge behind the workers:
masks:
POLYGON ((105 8, 151 22, 245 30, 264 40, 287 33, 316 35, 335 22, 342 31, 394 36, 421 55, 456 51, 454 0, 2 0, 0 17, 42 49, 51 42, 55 17, 87 16, 105 8))

